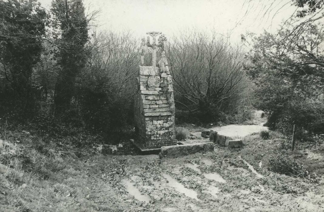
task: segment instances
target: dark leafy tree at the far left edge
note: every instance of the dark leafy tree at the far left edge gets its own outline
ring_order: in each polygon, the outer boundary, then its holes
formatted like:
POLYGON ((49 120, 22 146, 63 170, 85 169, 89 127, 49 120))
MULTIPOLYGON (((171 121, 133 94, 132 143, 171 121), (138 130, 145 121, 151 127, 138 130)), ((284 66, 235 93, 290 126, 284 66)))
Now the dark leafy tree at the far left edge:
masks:
POLYGON ((47 15, 36 0, 1 0, 0 8, 0 62, 10 85, 1 102, 26 113, 32 109, 31 76, 40 61, 47 15))

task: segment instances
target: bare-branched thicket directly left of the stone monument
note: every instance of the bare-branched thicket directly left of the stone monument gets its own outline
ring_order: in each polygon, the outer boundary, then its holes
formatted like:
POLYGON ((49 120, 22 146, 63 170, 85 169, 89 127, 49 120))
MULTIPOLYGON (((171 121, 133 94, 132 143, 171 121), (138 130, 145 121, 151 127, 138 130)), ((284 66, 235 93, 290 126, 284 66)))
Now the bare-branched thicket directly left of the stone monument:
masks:
POLYGON ((94 128, 118 128, 133 120, 138 44, 130 33, 94 33, 92 57, 77 80, 82 114, 94 128))

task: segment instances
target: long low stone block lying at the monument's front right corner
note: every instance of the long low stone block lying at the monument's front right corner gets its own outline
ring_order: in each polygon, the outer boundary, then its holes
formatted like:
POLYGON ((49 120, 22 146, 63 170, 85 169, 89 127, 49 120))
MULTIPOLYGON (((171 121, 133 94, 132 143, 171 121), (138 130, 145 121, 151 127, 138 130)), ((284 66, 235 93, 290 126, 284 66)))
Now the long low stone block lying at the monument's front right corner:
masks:
POLYGON ((184 144, 184 145, 174 145, 174 146, 164 146, 161 147, 160 158, 176 158, 179 156, 194 154, 197 152, 210 152, 214 151, 214 143, 194 143, 194 144, 184 144))

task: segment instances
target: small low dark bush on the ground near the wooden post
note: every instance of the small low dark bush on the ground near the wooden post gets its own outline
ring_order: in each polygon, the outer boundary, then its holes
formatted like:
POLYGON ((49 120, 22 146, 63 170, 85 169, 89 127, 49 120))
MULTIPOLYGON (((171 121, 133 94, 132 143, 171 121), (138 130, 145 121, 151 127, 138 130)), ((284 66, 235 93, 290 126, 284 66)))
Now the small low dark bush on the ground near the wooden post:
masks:
POLYGON ((272 156, 269 160, 270 170, 279 174, 300 176, 304 173, 303 164, 300 164, 287 154, 272 156))

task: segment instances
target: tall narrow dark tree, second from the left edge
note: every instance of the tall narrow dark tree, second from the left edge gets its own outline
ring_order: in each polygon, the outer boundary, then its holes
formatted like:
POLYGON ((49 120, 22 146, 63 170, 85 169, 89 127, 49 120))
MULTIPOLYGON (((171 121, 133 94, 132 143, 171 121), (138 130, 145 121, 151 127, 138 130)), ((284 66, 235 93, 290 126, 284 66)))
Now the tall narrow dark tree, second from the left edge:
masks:
POLYGON ((60 29, 56 56, 61 71, 55 88, 55 111, 62 114, 69 109, 75 90, 75 79, 88 57, 88 22, 82 0, 54 0, 54 27, 60 29))

